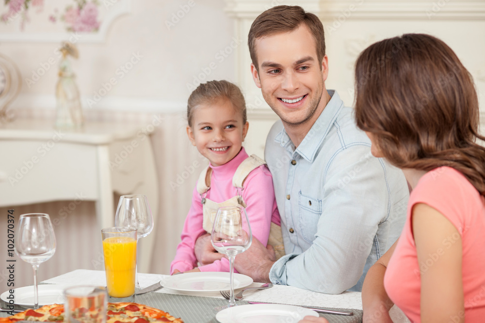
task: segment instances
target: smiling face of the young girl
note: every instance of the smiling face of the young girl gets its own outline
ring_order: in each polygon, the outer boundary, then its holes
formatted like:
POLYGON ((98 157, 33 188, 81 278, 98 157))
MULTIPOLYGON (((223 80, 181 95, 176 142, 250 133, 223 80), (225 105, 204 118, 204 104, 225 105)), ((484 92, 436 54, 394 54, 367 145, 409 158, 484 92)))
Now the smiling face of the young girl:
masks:
POLYGON ((197 106, 192 121, 187 135, 212 166, 224 165, 239 153, 249 127, 229 100, 197 106))

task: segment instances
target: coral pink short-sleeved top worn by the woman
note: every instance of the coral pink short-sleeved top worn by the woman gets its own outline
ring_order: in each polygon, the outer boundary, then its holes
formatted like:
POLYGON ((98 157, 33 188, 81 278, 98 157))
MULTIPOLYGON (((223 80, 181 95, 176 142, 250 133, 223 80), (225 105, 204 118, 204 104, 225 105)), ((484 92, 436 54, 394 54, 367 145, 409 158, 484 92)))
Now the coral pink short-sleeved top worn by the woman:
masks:
MULTIPOLYGON (((420 270, 425 271, 432 266, 439 255, 458 239, 458 236, 445 239, 442 250, 437 249, 436 254, 419 264, 411 221, 411 210, 417 203, 425 203, 439 211, 459 232, 463 246, 465 321, 485 322, 484 200, 462 173, 450 167, 439 167, 427 172, 411 192, 403 233, 384 277, 386 292, 409 320, 421 322, 420 270)), ((451 318, 450 322, 457 320, 451 318)))

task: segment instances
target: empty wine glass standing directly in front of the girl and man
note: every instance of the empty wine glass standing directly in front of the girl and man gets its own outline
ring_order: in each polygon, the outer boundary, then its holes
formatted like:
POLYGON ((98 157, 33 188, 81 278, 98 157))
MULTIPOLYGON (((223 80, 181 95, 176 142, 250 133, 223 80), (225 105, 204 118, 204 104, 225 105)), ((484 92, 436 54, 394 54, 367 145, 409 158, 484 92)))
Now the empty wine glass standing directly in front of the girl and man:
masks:
POLYGON ((239 206, 226 206, 217 210, 212 225, 212 246, 229 258, 229 280, 231 297, 227 306, 215 308, 221 310, 236 305, 234 301, 234 259, 236 255, 246 251, 251 246, 251 226, 247 218, 246 209, 239 206))

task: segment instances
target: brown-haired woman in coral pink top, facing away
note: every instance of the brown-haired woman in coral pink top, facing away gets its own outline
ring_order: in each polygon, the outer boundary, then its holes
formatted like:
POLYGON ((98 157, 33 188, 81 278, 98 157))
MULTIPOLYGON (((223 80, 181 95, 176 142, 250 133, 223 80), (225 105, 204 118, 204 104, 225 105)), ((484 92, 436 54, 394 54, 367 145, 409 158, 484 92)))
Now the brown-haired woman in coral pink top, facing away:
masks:
MULTIPOLYGON (((356 62, 356 123, 412 187, 398 241, 369 270, 365 322, 484 322, 485 149, 478 98, 453 50, 424 34, 373 44, 356 62)), ((320 319, 304 322, 325 322, 320 319)))

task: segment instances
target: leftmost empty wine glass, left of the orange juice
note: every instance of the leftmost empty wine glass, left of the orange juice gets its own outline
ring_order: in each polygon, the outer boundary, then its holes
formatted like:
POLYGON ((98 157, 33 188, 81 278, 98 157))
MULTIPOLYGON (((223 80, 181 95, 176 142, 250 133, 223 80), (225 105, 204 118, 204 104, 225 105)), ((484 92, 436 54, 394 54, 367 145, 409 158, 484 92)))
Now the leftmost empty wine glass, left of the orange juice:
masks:
POLYGON ((39 308, 37 270, 56 251, 56 237, 49 215, 30 213, 20 215, 15 241, 15 252, 25 262, 32 264, 34 308, 39 308))

